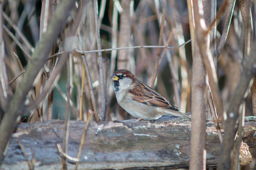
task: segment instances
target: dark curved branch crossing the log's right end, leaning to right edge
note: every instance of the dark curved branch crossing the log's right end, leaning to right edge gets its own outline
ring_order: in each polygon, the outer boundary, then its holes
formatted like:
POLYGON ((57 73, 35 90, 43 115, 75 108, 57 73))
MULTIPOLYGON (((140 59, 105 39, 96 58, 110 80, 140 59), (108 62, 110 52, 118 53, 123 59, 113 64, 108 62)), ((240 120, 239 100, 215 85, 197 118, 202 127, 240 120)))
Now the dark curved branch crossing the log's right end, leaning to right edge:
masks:
POLYGON ((253 83, 251 78, 256 74, 256 44, 254 44, 251 49, 251 55, 244 63, 244 71, 226 112, 227 118, 225 122, 223 152, 218 164, 219 169, 230 169, 231 167, 231 152, 233 150, 234 139, 238 128, 238 120, 240 117, 239 108, 249 92, 248 88, 251 86, 251 83, 253 83))

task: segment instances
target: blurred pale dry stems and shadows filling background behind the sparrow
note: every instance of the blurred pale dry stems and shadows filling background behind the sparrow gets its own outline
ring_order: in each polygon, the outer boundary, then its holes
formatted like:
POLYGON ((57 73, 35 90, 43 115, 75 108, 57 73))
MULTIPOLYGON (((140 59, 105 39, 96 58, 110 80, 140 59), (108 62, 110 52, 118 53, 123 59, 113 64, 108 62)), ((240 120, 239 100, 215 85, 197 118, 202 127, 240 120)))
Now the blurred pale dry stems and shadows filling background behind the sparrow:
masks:
MULTIPOLYGON (((209 1, 215 3, 217 10, 223 1, 209 1)), ((14 94, 26 71, 27 63, 34 52, 41 36, 47 31, 47 25, 54 16, 54 10, 60 1, 33 1, 33 0, 9 0, 3 2, 3 39, 5 41, 5 62, 9 85, 14 94), (13 35, 11 35, 13 34, 13 35)), ((209 6, 211 6, 209 5, 209 6)), ((255 2, 251 3, 251 17, 255 16, 255 2)), ((228 6, 227 6, 228 7, 228 6)), ((225 10, 219 20, 216 29, 212 30, 211 49, 216 64, 219 80, 221 102, 224 109, 236 90, 242 73, 242 63, 246 54, 244 41, 244 28, 241 4, 234 6, 233 16, 230 20, 228 36, 223 50, 217 53, 221 35, 228 19, 228 10, 225 10)), ((205 11, 211 11, 212 8, 205 11)), ((216 11, 215 11, 216 12, 216 11)), ((207 14, 205 14, 207 15, 207 14)), ((176 105, 181 112, 190 112, 191 109, 191 72, 192 51, 191 42, 174 49, 147 48, 147 45, 178 46, 191 39, 190 26, 187 11, 187 1, 98 1, 98 18, 100 28, 100 42, 102 49, 117 47, 142 46, 142 48, 130 48, 121 50, 108 50, 102 52, 102 65, 104 70, 105 88, 105 121, 125 120, 132 118, 125 113, 116 102, 112 89, 110 76, 117 69, 128 69, 136 78, 149 86, 153 81, 155 65, 157 64, 157 79, 154 83, 162 96, 176 105), (166 8, 163 16, 163 8, 166 8), (162 17, 163 16, 163 17, 162 17), (161 23, 162 25, 162 36, 161 23), (157 58, 159 59, 157 60, 157 58)), ((49 91, 47 97, 30 113, 24 113, 22 122, 47 121, 51 119, 65 119, 65 105, 68 102, 66 96, 67 84, 70 82, 70 120, 87 120, 89 109, 93 109, 93 101, 90 94, 90 81, 86 78, 90 74, 91 85, 95 97, 97 112, 102 109, 100 64, 99 54, 89 53, 97 48, 97 29, 95 27, 95 14, 93 1, 77 1, 72 15, 66 20, 64 29, 58 32, 58 39, 49 54, 49 60, 41 74, 37 77, 35 87, 29 94, 31 101, 41 93, 51 76, 54 67, 58 64, 58 58, 64 51, 69 53, 67 65, 64 65, 54 83, 53 91, 49 91), (83 7, 80 23, 75 23, 79 15, 78 9, 83 7), (75 36, 69 36, 68 32, 79 24, 75 36), (87 71, 82 64, 83 54, 75 50, 86 51, 84 56, 87 61, 87 71), (57 54, 56 54, 57 53, 57 54), (55 54, 55 55, 54 55, 55 54), (51 57, 53 56, 53 57, 51 57), (87 74, 85 74, 87 73, 87 74), (70 79, 69 81, 67 79, 70 79), (51 113, 51 114, 49 114, 51 113)), ((208 23, 212 19, 209 18, 208 23)), ((254 19, 251 24, 255 28, 254 19)), ((251 40, 255 40, 255 30, 252 30, 251 40)), ((245 116, 256 116, 253 111, 251 91, 245 99, 245 116)), ((209 114, 210 115, 210 114, 209 114)), ((208 116, 211 118, 211 116, 208 116)), ((253 150, 251 152, 253 154, 253 150)), ((254 156, 255 157, 255 156, 254 156)), ((254 166, 251 165, 252 167, 254 166)))

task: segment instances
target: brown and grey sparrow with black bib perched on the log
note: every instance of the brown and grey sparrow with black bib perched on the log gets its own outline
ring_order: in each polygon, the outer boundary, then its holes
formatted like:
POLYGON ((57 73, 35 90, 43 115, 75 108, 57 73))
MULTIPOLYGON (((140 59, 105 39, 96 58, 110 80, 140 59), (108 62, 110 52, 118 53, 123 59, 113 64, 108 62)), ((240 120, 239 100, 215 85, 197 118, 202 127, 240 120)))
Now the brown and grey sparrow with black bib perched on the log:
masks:
POLYGON ((110 78, 114 80, 117 103, 133 117, 158 120, 163 115, 172 115, 191 119, 157 91, 136 79, 129 70, 116 70, 110 78))

